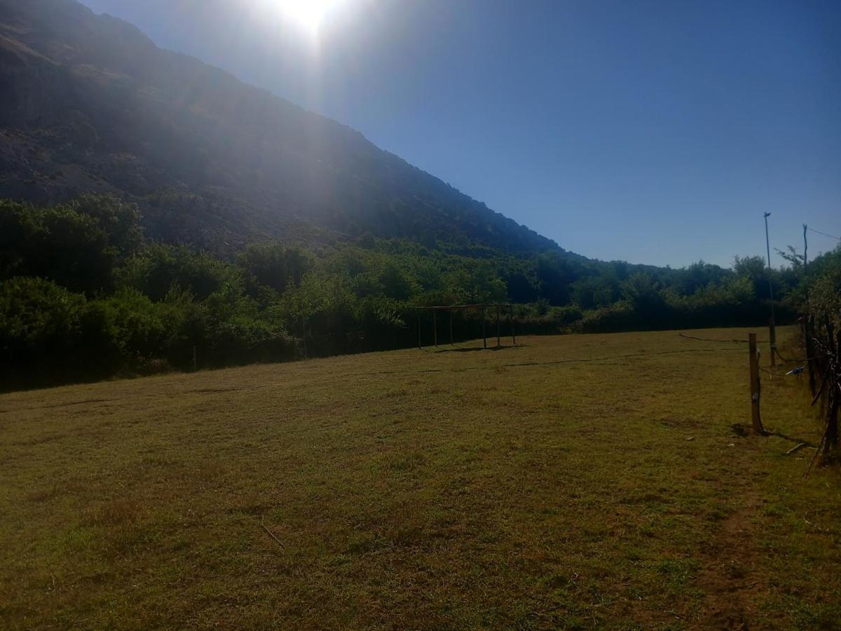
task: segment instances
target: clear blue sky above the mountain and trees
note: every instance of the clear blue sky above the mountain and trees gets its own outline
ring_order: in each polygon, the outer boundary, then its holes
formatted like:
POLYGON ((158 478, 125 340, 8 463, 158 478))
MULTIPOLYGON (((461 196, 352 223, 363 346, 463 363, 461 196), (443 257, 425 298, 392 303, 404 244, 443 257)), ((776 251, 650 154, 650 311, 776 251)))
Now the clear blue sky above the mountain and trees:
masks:
POLYGON ((772 248, 841 236, 839 0, 338 0, 317 34, 284 0, 82 2, 588 257, 728 266, 766 211, 772 248))

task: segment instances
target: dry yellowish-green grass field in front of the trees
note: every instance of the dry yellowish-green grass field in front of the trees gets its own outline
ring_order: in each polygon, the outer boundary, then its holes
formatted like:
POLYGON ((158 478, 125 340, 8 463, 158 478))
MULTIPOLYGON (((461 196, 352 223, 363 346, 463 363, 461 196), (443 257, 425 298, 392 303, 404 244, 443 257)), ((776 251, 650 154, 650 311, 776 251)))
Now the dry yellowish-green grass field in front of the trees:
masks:
POLYGON ((521 342, 0 396, 0 627, 839 628, 795 379, 754 437, 746 345, 521 342))

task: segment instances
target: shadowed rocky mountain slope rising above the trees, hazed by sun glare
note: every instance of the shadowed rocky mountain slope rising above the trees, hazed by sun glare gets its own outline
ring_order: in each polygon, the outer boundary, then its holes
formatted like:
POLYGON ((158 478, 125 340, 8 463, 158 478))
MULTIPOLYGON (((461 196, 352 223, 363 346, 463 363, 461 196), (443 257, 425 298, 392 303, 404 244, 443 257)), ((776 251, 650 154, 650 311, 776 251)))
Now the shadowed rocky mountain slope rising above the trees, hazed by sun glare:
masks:
POLYGON ((370 233, 559 250, 361 134, 73 0, 0 0, 0 197, 135 201, 216 250, 370 233))

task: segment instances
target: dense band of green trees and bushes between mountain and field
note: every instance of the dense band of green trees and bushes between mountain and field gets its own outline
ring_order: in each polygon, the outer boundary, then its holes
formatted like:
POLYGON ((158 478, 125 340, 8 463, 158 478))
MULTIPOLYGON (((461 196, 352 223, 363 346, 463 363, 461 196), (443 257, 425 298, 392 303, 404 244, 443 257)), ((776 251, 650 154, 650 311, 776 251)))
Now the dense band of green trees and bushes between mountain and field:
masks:
MULTIPOLYGON (((838 273, 841 250, 810 262, 838 273)), ((510 301, 523 333, 793 321, 807 276, 796 260, 733 269, 654 268, 548 250, 363 235, 308 251, 252 243, 235 259, 144 238, 134 204, 83 195, 39 207, 0 201, 0 369, 22 387, 408 347, 416 308, 510 301)), ((459 339, 479 313, 455 315, 459 339)))

